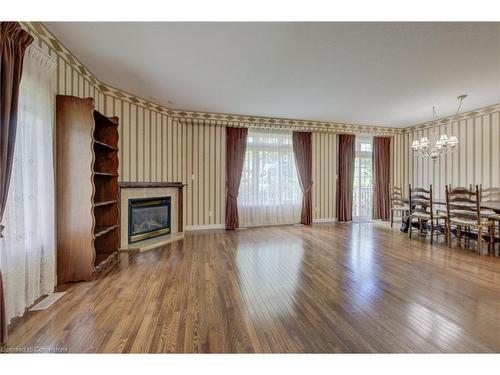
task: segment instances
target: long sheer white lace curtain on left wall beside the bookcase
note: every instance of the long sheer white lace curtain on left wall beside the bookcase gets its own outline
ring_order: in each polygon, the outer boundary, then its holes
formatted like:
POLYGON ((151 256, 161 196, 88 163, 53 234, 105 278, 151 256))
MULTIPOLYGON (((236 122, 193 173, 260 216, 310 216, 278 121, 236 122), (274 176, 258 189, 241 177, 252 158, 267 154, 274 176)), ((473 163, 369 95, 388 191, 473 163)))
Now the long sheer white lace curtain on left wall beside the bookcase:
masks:
POLYGON ((7 322, 54 291, 55 207, 52 58, 28 47, 19 93, 12 176, 0 239, 7 322))

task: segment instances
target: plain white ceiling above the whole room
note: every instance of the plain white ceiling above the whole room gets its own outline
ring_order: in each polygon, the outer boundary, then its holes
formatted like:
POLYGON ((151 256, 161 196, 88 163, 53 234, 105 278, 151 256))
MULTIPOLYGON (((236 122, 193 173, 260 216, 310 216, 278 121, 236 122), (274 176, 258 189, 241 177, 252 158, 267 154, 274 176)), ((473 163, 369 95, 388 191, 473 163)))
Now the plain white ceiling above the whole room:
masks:
POLYGON ((102 82, 173 109, 401 127, 462 93, 500 102, 500 23, 45 25, 102 82))

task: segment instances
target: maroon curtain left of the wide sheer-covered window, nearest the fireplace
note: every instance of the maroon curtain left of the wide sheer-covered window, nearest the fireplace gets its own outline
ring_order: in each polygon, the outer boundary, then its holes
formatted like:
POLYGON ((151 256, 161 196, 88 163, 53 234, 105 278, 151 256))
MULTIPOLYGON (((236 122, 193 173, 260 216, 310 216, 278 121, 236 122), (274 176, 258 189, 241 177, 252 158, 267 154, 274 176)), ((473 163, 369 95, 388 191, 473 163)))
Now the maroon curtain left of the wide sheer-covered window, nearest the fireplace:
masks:
POLYGON ((247 149, 247 128, 226 128, 226 229, 238 223, 238 190, 247 149))

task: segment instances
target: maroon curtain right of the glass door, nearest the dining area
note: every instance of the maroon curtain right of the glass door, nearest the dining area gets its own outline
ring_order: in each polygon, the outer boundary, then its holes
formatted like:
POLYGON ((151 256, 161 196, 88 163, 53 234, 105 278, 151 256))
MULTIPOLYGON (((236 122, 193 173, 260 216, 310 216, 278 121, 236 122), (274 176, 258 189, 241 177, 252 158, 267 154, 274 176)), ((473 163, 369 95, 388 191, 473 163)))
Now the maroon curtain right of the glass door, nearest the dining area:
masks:
POLYGON ((373 137, 373 218, 389 220, 391 204, 389 192, 391 138, 373 137))

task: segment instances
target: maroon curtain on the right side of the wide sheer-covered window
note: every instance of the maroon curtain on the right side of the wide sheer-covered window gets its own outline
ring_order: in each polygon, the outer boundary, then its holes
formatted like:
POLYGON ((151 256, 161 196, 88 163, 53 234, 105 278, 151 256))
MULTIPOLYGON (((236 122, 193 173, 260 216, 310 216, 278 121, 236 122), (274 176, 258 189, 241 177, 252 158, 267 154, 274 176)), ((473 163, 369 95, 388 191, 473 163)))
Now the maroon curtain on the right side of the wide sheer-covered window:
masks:
POLYGON ((302 189, 302 212, 300 222, 312 224, 312 146, 311 133, 293 132, 293 155, 302 189))

